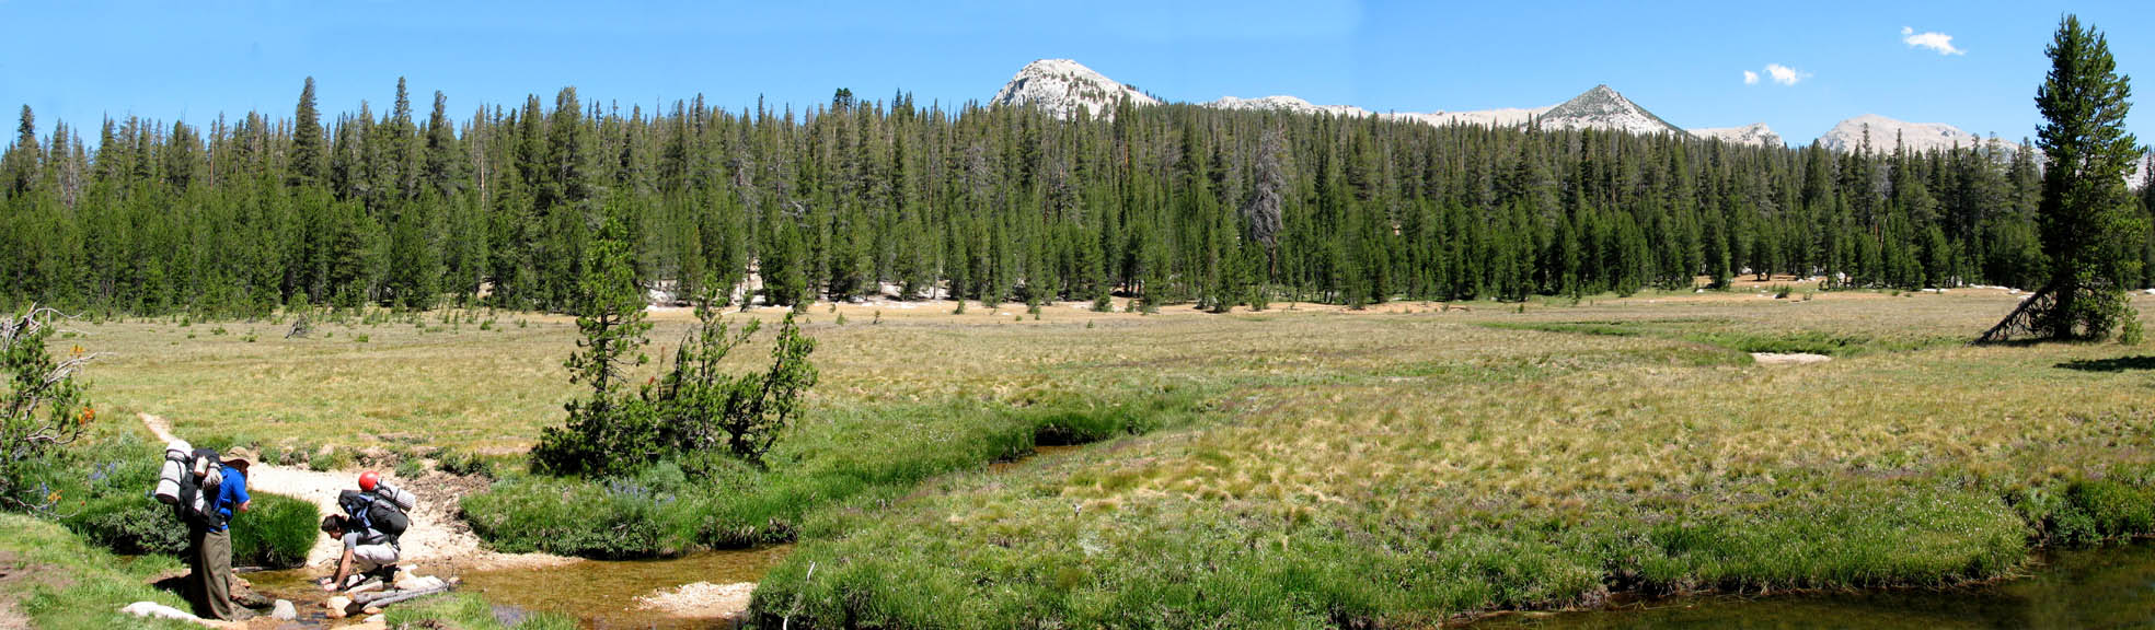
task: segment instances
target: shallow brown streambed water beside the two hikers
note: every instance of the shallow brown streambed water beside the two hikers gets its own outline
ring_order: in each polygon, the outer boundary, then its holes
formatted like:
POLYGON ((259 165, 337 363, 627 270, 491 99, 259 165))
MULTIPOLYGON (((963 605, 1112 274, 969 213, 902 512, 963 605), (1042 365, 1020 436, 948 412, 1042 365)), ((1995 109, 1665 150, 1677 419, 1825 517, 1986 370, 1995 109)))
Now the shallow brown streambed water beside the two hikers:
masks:
MULTIPOLYGON (((791 546, 743 550, 700 550, 677 559, 575 561, 545 568, 422 572, 463 581, 457 591, 481 593, 493 604, 493 615, 515 621, 532 611, 578 617, 584 628, 733 628, 726 619, 679 617, 666 611, 638 608, 640 596, 670 591, 692 583, 754 583, 787 557, 791 546)), ((328 593, 315 587, 321 570, 284 570, 246 574, 254 589, 269 598, 291 600, 304 628, 328 626, 321 602, 328 593)), ((340 624, 340 621, 338 621, 340 624)))

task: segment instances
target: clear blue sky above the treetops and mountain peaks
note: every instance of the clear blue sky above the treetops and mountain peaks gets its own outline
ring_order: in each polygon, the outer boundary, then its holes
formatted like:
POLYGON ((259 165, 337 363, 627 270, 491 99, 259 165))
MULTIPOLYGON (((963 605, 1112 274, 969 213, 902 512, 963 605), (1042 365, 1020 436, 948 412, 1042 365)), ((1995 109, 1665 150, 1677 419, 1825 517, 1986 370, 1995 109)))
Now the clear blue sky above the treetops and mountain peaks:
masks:
MULTIPOLYGON (((1610 84, 1681 127, 1767 123, 1808 142, 1881 114, 2019 140, 2062 13, 2155 80, 2155 2, 28 2, 0 0, 0 105, 103 116, 381 112, 397 77, 457 118, 481 103, 985 101, 1075 58, 1172 101, 1297 95, 1433 112, 1534 108, 1610 84), (1911 43, 1914 37, 1914 43, 1911 43), (1950 37, 1946 45, 1937 45, 1950 37), (1929 43, 1916 45, 1916 43, 1929 43), (1769 65, 1795 84, 1776 82, 1769 65), (1746 71, 1756 82, 1746 84, 1746 71)), ((2140 95, 2155 95, 2142 82, 2140 95)), ((2142 99, 2146 103, 2146 99, 2142 99)), ((420 112, 425 114, 425 112, 420 112)), ((2155 103, 2133 118, 2155 140, 2155 103)))

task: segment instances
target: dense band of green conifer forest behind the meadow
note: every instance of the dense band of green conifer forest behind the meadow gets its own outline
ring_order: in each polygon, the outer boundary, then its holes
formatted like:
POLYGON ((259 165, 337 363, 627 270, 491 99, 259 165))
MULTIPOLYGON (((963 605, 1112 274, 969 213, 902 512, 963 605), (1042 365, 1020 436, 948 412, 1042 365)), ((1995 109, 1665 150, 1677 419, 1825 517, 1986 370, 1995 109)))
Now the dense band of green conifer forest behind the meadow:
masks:
POLYGON ((312 80, 289 118, 207 127, 41 135, 24 108, 0 159, 0 303, 569 310, 606 221, 646 288, 778 305, 1360 307, 1767 273, 1849 288, 2045 277, 2026 142, 1830 153, 1196 105, 1058 120, 849 90, 800 112, 700 97, 646 112, 562 88, 459 118, 442 92, 416 112, 403 82, 388 112, 328 116, 312 80))

